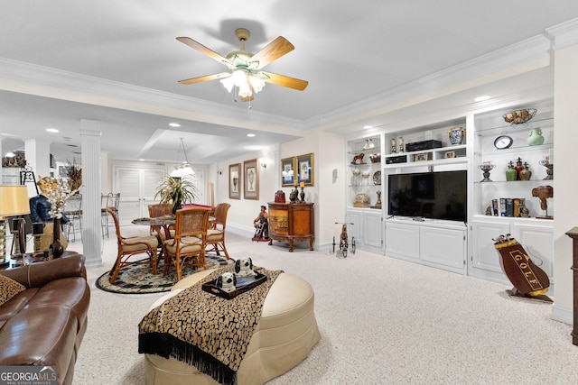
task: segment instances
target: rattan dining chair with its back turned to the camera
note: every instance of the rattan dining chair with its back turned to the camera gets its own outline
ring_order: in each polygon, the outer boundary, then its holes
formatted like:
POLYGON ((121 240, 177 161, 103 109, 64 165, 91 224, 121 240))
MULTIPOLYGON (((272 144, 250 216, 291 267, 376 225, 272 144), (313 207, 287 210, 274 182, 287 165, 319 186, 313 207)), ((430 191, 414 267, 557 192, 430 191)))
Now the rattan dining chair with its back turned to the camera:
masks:
POLYGON ((163 243, 165 275, 169 273, 172 264, 177 272, 177 281, 182 279, 182 268, 185 265, 207 270, 205 247, 209 215, 210 208, 204 207, 177 210, 174 237, 163 243))

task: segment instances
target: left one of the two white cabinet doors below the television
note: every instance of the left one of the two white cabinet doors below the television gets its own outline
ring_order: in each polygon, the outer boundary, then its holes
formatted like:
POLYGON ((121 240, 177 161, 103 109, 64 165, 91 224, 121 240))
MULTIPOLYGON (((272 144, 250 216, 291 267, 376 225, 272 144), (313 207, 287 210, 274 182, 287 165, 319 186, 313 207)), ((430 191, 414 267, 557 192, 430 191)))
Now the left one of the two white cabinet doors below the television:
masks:
POLYGON ((419 226, 387 223, 386 255, 419 260, 419 226))

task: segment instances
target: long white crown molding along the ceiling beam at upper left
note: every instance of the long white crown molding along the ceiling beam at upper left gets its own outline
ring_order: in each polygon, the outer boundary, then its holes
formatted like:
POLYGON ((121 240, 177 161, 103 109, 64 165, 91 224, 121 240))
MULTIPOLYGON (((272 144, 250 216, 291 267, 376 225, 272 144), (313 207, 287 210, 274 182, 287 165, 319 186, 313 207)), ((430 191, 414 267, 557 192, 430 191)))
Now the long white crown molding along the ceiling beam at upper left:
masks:
POLYGON ((0 58, 0 89, 210 124, 303 136, 303 123, 114 80, 0 58), (274 123, 273 123, 274 122, 274 123))

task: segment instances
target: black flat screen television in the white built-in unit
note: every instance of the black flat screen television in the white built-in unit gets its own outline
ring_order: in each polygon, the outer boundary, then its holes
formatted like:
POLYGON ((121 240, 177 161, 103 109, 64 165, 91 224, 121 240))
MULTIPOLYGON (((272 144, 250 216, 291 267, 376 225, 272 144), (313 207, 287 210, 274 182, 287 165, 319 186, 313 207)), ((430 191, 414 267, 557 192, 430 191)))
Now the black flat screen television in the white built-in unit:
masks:
POLYGON ((466 170, 390 174, 387 191, 388 215, 467 220, 466 170))

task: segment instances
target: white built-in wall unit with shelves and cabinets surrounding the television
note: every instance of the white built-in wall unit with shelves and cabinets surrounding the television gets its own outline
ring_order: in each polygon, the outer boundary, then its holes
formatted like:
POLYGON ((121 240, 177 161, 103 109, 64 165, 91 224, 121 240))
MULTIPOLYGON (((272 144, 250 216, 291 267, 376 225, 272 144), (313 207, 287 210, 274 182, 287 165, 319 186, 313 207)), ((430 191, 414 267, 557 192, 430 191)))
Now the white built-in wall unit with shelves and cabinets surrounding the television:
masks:
MULTIPOLYGON (((524 105, 500 105, 492 109, 464 112, 438 123, 424 124, 398 131, 372 133, 367 137, 348 142, 348 186, 346 222, 350 236, 356 238, 361 250, 384 253, 387 256, 415 261, 427 266, 467 274, 485 280, 509 284, 504 274, 499 253, 493 239, 510 234, 521 243, 528 255, 553 278, 554 220, 541 219, 545 211, 540 201, 532 196, 532 189, 540 186, 554 187, 554 179, 547 177, 544 163, 546 157, 554 163, 554 106, 552 100, 536 101, 524 105), (508 124, 503 115, 519 109, 536 108, 536 115, 525 124, 508 124), (452 127, 464 127, 466 135, 461 144, 450 143, 448 131, 452 127), (540 145, 528 145, 532 129, 539 127, 545 141, 540 145), (494 142, 499 135, 513 139, 508 149, 498 150, 494 142), (371 139, 376 148, 364 151, 362 147, 371 139), (439 148, 423 151, 406 151, 406 144, 435 140, 442 142, 439 148), (400 142, 403 146, 400 147, 400 142), (360 152, 378 152, 379 164, 352 164, 360 152), (507 181, 509 161, 517 158, 526 162, 532 171, 530 180, 507 181), (491 182, 483 179, 480 165, 489 162, 491 182), (368 179, 354 175, 357 170, 367 170, 368 179), (387 176, 396 173, 436 172, 446 170, 468 171, 467 223, 391 216, 387 209, 387 176), (355 172, 353 172, 355 171, 355 172), (381 184, 371 183, 380 171, 381 184), (357 194, 363 193, 375 205, 377 191, 381 192, 379 209, 353 206, 357 194), (492 199, 525 198, 529 217, 486 215, 492 199), (419 219, 419 220, 414 220, 419 219)), ((365 160, 368 160, 365 158, 365 160)), ((554 199, 547 199, 548 215, 554 215, 554 199)), ((552 293, 553 286, 551 287, 552 293)))

